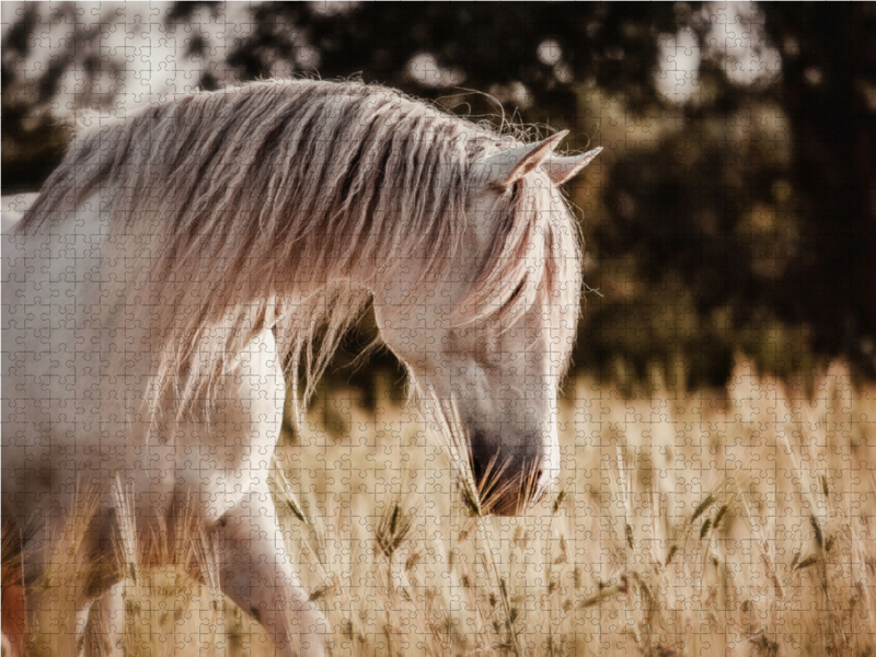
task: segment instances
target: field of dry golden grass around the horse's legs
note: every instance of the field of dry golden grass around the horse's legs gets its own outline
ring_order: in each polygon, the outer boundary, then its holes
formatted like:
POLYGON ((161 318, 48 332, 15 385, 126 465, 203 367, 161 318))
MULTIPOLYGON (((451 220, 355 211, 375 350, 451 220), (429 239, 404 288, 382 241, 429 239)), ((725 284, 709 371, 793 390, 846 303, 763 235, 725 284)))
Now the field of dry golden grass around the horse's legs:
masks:
MULTIPOLYGON (((745 361, 726 393, 660 373, 627 395, 569 381, 558 486, 512 519, 477 516, 440 441, 384 388, 373 408, 321 393, 277 457, 287 543, 333 655, 874 654, 876 389, 843 366, 808 394, 745 361)), ((33 655, 59 654, 71 626, 67 591, 90 567, 77 531, 34 587, 33 655)), ((210 537, 168 545, 126 527, 117 554, 127 655, 272 654, 210 586, 210 537)))

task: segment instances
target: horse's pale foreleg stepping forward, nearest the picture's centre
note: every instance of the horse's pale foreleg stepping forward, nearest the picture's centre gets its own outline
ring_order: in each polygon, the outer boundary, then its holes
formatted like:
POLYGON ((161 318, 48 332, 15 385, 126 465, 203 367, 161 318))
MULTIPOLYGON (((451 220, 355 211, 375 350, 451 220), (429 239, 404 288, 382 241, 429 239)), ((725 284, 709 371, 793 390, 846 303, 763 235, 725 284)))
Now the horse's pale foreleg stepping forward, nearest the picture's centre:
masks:
POLYGON ((222 592, 268 631, 276 655, 324 655, 327 623, 292 568, 270 495, 250 494, 217 529, 222 592))

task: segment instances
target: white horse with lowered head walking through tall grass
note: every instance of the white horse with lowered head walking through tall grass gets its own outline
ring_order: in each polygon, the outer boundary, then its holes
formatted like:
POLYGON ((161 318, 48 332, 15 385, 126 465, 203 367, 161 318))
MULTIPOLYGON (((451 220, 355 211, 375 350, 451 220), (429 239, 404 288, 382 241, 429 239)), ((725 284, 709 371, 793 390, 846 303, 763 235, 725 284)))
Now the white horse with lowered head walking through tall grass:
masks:
MULTIPOLYGON (((147 530, 185 500, 277 654, 323 654, 267 472, 286 381, 306 402, 368 302, 488 509, 544 495, 580 292, 557 186, 599 151, 555 157, 564 135, 522 145, 393 90, 303 80, 81 134, 3 246, 2 507, 28 554, 82 486, 105 492, 95 558, 113 482, 147 530)), ((82 586, 77 632, 112 584, 82 586)))

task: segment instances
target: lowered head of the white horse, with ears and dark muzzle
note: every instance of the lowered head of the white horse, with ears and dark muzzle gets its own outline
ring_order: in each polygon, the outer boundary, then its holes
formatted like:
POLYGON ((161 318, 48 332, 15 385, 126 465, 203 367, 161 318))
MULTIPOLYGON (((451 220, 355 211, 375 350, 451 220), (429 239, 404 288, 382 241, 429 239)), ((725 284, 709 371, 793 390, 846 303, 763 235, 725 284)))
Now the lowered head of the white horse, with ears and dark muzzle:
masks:
POLYGON ((557 388, 581 280, 575 220, 557 186, 600 150, 552 157, 564 135, 471 165, 457 246, 430 273, 417 265, 434 262, 426 244, 374 290, 383 339, 468 449, 481 498, 499 515, 541 498, 560 469, 557 388))

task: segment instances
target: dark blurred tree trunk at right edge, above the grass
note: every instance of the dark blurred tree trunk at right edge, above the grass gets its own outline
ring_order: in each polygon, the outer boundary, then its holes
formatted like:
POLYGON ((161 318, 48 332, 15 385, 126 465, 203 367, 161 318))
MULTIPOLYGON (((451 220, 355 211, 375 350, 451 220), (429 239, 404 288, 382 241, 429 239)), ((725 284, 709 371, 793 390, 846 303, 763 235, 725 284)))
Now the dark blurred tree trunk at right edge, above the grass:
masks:
POLYGON ((777 308, 814 346, 873 372, 876 346, 876 4, 765 3, 794 136, 799 258, 777 308))

